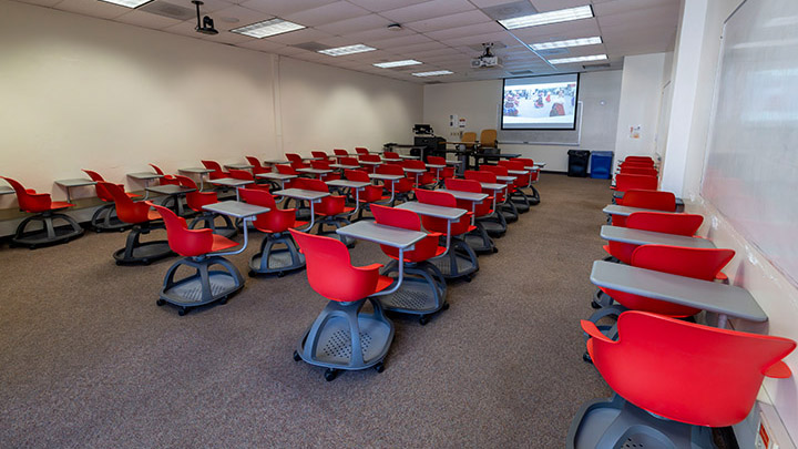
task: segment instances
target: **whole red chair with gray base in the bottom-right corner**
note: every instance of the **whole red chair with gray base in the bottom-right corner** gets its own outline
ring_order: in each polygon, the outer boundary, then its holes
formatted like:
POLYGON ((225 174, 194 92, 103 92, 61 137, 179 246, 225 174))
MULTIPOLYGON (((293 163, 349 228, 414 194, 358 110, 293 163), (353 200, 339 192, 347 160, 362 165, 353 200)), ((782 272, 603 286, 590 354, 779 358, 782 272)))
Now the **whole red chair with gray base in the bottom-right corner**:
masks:
POLYGON ((618 339, 582 322, 587 351, 614 396, 585 404, 570 449, 713 448, 712 427, 743 421, 765 377, 788 378, 796 343, 626 312, 618 339))

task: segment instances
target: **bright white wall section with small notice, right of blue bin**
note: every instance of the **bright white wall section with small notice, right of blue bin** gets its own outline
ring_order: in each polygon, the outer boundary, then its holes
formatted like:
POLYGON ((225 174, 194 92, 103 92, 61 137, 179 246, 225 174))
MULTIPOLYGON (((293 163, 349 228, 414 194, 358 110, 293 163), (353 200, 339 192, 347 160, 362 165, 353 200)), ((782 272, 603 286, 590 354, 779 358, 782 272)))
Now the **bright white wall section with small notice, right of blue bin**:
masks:
POLYGON ((665 57, 653 53, 624 58, 615 161, 627 155, 655 155, 662 88, 667 82, 663 79, 665 57), (640 126, 640 139, 632 137, 633 126, 640 126))

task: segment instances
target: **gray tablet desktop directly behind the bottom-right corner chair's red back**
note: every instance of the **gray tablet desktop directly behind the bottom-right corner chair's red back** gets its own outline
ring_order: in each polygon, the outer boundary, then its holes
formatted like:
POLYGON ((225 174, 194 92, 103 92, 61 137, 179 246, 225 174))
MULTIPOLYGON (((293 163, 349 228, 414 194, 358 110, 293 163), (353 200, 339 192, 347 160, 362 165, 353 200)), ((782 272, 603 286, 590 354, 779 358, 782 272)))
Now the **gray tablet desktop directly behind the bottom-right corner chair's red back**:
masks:
POLYGON ((734 285, 603 261, 593 263, 591 282, 604 288, 716 313, 722 328, 726 327, 728 317, 759 323, 768 319, 750 293, 734 285))

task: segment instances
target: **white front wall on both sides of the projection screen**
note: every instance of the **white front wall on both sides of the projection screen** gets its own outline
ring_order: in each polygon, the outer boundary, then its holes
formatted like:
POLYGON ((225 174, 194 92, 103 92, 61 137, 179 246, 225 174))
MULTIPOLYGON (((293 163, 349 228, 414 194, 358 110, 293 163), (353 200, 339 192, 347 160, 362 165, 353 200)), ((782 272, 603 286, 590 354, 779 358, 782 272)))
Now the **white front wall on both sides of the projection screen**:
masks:
MULTIPOLYGON (((621 98, 621 71, 582 73, 580 83, 580 101, 584 108, 581 145, 504 143, 500 145, 502 152, 521 153, 525 157, 545 162, 549 171, 565 172, 570 149, 613 151, 621 98)), ((424 85, 424 123, 430 123, 437 135, 447 139, 457 139, 449 129, 450 114, 466 118, 466 131, 473 131, 478 135, 484 129, 499 129, 501 89, 501 80, 424 85)))

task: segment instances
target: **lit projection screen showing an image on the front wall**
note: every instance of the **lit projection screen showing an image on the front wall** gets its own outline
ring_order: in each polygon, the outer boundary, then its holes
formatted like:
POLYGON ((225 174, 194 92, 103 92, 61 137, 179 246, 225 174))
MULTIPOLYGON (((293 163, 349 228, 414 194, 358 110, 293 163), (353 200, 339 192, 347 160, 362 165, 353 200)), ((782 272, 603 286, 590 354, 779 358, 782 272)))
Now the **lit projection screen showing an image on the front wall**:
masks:
POLYGON ((504 80, 502 130, 573 130, 579 73, 504 80))

